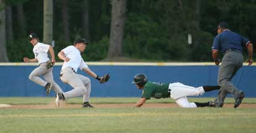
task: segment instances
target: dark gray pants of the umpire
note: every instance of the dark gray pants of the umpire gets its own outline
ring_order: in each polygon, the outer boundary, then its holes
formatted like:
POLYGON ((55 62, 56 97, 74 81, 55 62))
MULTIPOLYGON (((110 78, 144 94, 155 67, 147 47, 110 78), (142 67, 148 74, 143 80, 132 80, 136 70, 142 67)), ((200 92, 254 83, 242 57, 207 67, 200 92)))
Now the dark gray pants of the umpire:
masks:
POLYGON ((236 99, 237 95, 241 93, 241 90, 237 89, 231 79, 239 68, 242 67, 243 56, 236 51, 230 51, 226 53, 222 59, 220 69, 218 71, 218 85, 221 86, 218 92, 218 97, 215 100, 217 107, 222 107, 226 95, 232 94, 236 99))

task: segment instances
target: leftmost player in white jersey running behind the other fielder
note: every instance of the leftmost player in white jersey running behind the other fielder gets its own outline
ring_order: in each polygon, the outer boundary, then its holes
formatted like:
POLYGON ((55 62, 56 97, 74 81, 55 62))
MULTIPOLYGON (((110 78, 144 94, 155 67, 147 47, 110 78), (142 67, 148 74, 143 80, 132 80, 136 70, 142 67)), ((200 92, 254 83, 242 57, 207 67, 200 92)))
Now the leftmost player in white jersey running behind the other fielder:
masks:
POLYGON ((38 62, 39 67, 35 68, 30 75, 29 79, 40 86, 45 87, 46 95, 53 88, 55 92, 63 92, 61 87, 53 79, 53 65, 55 62, 54 50, 52 46, 39 42, 35 33, 28 36, 28 41, 33 45, 33 52, 35 58, 23 57, 24 62, 38 62), (48 57, 48 51, 51 54, 51 60, 48 57), (43 79, 40 77, 42 76, 43 79))

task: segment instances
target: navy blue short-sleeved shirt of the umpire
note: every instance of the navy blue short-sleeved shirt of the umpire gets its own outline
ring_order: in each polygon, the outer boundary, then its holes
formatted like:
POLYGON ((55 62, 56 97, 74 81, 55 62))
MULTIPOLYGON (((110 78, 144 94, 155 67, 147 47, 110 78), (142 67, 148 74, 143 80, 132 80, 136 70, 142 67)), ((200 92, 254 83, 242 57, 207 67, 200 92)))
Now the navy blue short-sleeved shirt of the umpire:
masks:
POLYGON ((215 36, 212 50, 221 50, 224 53, 228 49, 235 49, 242 52, 242 46, 247 46, 249 40, 230 30, 225 30, 215 36))

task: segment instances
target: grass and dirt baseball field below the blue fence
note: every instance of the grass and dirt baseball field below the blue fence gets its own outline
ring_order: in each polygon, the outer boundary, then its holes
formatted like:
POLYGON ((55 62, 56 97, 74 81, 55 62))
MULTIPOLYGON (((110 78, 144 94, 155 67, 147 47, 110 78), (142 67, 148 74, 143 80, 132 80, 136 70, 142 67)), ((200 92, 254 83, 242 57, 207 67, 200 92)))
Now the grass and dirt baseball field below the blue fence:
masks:
MULTIPOLYGON (((190 98, 207 102, 212 98, 190 98)), ((81 98, 55 108, 54 97, 1 97, 0 132, 255 132, 256 99, 233 108, 179 108, 171 99, 151 99, 142 108, 139 98, 92 98, 95 108, 82 108, 81 98)))

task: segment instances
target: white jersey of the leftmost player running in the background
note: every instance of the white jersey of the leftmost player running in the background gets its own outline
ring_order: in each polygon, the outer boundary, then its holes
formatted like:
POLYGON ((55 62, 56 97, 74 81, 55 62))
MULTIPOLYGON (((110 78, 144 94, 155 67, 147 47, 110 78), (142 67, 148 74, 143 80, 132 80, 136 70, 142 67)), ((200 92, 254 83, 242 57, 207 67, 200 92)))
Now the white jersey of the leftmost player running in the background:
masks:
POLYGON ((43 44, 41 42, 38 42, 34 46, 33 52, 35 54, 35 58, 38 60, 38 64, 45 63, 49 60, 48 54, 47 54, 48 50, 49 50, 48 44, 43 44))

